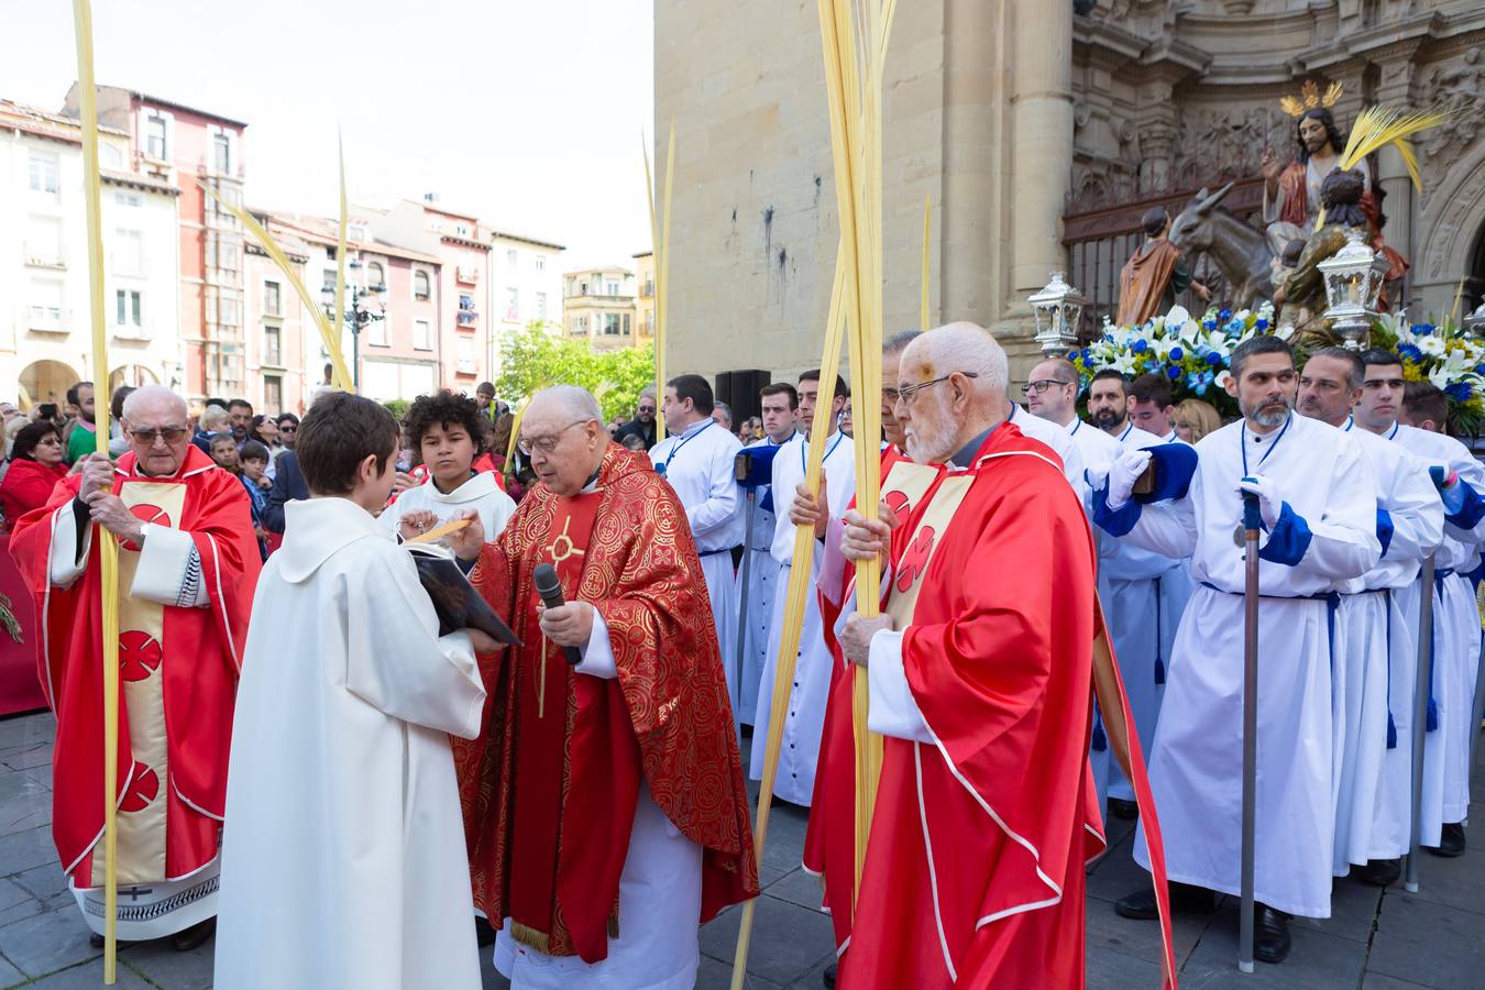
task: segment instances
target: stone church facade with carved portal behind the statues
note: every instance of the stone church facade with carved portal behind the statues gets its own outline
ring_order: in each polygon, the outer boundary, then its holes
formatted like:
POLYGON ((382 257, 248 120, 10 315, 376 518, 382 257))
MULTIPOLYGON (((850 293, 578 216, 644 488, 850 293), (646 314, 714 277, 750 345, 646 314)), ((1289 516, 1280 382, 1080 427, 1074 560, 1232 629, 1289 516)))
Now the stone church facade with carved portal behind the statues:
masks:
MULTIPOLYGON (((1415 319, 1485 294, 1485 4, 1479 0, 900 0, 884 94, 887 330, 930 316, 990 327, 1025 371, 1026 295, 1053 270, 1112 304, 1139 214, 1293 154, 1280 96, 1338 82, 1345 129, 1371 102, 1443 105, 1371 162, 1384 235, 1412 263, 1415 319)), ((656 0, 655 134, 676 122, 668 368, 818 362, 836 211, 812 0, 656 0)), ((662 142, 656 142, 662 144, 662 142)), ((664 160, 664 147, 653 150, 664 160)), ((1206 272, 1210 276, 1210 270, 1206 272)), ((1096 316, 1090 316, 1093 319, 1096 316)))

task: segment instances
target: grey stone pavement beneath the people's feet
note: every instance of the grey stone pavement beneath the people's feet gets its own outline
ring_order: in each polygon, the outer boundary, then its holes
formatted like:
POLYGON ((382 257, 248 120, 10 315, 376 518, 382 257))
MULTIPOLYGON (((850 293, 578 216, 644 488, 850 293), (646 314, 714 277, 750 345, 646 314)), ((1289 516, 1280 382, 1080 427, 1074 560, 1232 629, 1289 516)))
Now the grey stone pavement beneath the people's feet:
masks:
MULTIPOLYGON (((0 987, 46 990, 97 987, 99 951, 67 892, 50 839, 50 715, 0 720, 0 987)), ((1485 772, 1475 767, 1476 796, 1485 772)), ((1485 806, 1472 810, 1485 822, 1485 806)), ((820 888, 799 868, 805 812, 777 806, 763 855, 763 899, 754 920, 747 986, 757 990, 817 990, 835 957, 830 919, 820 913, 820 888)), ((1160 935, 1154 923, 1114 914, 1112 902, 1145 882, 1130 858, 1130 825, 1111 824, 1114 846, 1090 871, 1087 972, 1102 989, 1158 987, 1160 935)), ((1296 920, 1293 951, 1280 966, 1258 963, 1237 972, 1237 905, 1224 898, 1209 916, 1176 919, 1176 953, 1185 987, 1295 987, 1402 990, 1479 987, 1485 972, 1485 828, 1470 830, 1460 859, 1426 856, 1423 891, 1386 891, 1338 880, 1332 917, 1296 920)), ((725 911, 701 932, 698 987, 729 986, 740 910, 725 911)), ((200 990, 211 986, 212 943, 190 953, 168 944, 129 945, 119 954, 120 987, 200 990)), ((484 963, 486 987, 506 983, 484 963)))

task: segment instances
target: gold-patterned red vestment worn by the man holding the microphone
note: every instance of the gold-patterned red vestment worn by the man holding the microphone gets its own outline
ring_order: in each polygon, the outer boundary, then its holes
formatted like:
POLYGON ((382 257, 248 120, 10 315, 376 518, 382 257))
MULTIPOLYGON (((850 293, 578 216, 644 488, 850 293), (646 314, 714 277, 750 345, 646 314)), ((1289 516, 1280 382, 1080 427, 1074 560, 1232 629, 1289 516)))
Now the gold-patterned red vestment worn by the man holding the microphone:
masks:
POLYGON ((757 862, 722 656, 686 514, 643 454, 610 444, 597 490, 545 485, 487 543, 471 580, 521 637, 480 658, 478 739, 454 739, 475 904, 554 956, 607 956, 643 781, 702 848, 701 917, 756 896, 757 862), (609 626, 618 678, 575 674, 542 635, 532 573, 609 626))

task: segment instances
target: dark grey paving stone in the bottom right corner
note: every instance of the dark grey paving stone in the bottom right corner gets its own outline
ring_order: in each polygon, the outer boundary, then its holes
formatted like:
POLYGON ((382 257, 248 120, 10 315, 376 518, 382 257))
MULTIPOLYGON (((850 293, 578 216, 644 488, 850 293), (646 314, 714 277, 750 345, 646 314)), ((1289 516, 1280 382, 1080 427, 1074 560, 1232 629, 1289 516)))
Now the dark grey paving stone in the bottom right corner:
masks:
POLYGON ((1485 972, 1485 914, 1387 895, 1368 969, 1430 987, 1479 987, 1485 972))

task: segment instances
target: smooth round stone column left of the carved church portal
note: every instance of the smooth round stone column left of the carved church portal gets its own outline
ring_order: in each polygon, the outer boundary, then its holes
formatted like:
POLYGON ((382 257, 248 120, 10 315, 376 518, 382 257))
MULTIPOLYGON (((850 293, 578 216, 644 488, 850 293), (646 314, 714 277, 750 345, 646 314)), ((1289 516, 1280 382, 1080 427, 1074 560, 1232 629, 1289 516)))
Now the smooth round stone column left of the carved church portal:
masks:
MULTIPOLYGON (((1072 169, 1072 4, 1010 6, 1008 303, 1047 283, 1066 264, 1062 211, 1072 169)), ((1016 312, 1016 310, 1013 310, 1016 312)))

